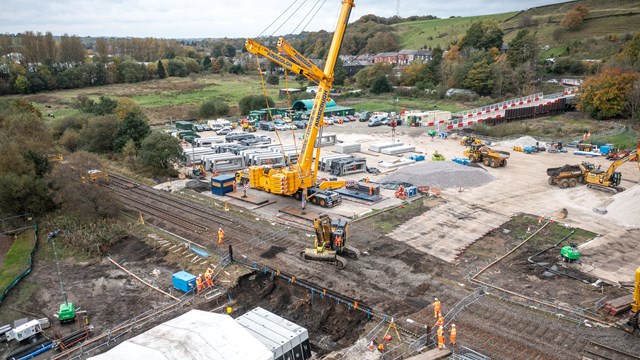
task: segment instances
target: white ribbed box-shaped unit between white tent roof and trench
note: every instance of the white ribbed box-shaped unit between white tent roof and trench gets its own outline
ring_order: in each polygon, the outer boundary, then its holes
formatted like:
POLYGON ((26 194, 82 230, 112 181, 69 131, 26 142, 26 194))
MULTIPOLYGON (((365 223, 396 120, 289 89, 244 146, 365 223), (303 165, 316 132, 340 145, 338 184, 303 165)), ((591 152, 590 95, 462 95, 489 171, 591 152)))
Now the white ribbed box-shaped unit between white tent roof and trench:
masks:
POLYGON ((309 333, 298 324, 261 307, 238 317, 236 321, 270 349, 275 360, 311 358, 309 333))

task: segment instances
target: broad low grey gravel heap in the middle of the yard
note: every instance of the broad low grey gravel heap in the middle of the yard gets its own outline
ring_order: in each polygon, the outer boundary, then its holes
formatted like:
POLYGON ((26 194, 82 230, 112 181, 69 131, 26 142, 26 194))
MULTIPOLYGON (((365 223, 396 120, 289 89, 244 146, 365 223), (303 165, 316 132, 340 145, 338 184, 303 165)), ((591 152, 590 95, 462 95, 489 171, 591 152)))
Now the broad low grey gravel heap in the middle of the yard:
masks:
POLYGON ((435 186, 441 189, 456 187, 476 187, 493 181, 487 171, 452 161, 419 162, 416 165, 399 168, 382 178, 381 182, 405 182, 414 186, 435 186))

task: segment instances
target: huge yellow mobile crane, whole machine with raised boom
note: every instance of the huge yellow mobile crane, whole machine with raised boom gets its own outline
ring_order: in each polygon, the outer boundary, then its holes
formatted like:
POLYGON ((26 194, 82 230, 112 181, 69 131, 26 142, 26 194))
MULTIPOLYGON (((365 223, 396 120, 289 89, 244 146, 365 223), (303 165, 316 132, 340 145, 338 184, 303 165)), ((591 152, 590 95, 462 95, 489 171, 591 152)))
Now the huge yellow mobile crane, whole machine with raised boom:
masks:
MULTIPOLYGON (((342 1, 336 30, 333 34, 331 47, 321 70, 309 59, 291 47, 283 38, 278 39, 279 52, 272 51, 258 42, 247 39, 245 47, 248 52, 275 62, 291 73, 303 75, 318 84, 311 115, 304 134, 304 141, 296 164, 288 162, 285 166, 250 166, 246 174, 252 188, 273 194, 294 196, 301 199, 305 196, 312 204, 323 207, 335 206, 342 201, 341 196, 331 191, 344 187, 344 180, 326 180, 318 182, 318 161, 320 160, 319 136, 322 135, 324 124, 324 110, 329 102, 329 92, 334 80, 334 67, 338 59, 340 45, 344 37, 351 9, 355 6, 353 0, 342 1), (315 159, 314 159, 315 150, 315 159)), ((242 175, 236 175, 236 177, 242 175)))

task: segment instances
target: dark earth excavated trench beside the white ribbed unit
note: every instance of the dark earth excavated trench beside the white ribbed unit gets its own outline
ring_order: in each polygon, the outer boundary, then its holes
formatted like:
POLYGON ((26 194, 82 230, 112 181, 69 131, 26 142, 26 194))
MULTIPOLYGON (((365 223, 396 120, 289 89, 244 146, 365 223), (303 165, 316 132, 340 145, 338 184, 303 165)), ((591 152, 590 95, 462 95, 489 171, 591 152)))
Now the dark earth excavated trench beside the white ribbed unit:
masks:
POLYGON ((368 322, 362 311, 317 293, 312 299, 309 290, 262 272, 239 278, 229 294, 237 304, 234 316, 257 306, 271 311, 306 328, 311 349, 319 355, 352 345, 368 322))

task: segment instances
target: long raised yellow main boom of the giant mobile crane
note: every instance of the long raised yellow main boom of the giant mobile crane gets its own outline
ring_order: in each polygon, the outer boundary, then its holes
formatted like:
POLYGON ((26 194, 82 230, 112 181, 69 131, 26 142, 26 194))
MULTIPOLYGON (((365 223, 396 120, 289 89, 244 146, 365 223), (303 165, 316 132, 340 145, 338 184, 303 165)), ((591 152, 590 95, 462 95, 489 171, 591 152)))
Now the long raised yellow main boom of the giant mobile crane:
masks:
POLYGON ((310 175, 311 172, 313 165, 313 148, 315 147, 316 138, 318 137, 320 128, 323 125, 324 109, 327 106, 327 101, 329 101, 329 92, 333 85, 333 69, 338 59, 338 53, 340 52, 344 33, 347 30, 349 15, 351 14, 351 9, 354 6, 355 4, 353 0, 342 1, 342 8, 336 25, 336 31, 333 33, 333 40, 331 41, 331 47, 329 48, 329 55, 327 56, 327 62, 324 66, 325 77, 318 83, 318 92, 316 93, 316 98, 313 102, 313 109, 311 110, 311 116, 309 117, 309 123, 305 130, 301 159, 298 160, 298 171, 302 177, 310 175))

